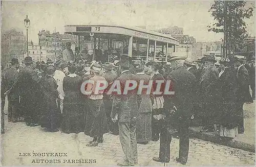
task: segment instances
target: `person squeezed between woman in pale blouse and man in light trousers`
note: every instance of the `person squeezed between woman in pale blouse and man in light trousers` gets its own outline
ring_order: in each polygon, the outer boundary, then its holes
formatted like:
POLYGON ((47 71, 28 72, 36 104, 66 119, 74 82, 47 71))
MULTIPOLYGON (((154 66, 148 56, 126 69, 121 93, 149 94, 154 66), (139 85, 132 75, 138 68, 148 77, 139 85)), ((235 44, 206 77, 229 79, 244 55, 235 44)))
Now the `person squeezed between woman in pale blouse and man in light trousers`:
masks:
MULTIPOLYGON (((114 80, 116 79, 116 75, 113 73, 113 65, 110 62, 106 62, 103 65, 104 68, 104 73, 101 75, 102 77, 104 77, 106 79, 106 82, 108 82, 108 87, 105 89, 105 92, 108 92, 112 83, 114 82, 114 80)), ((108 121, 109 124, 109 128, 110 128, 110 132, 118 135, 118 124, 117 123, 113 123, 111 120, 111 110, 112 110, 112 103, 113 103, 113 97, 111 96, 111 94, 106 94, 104 93, 103 96, 103 102, 104 102, 104 106, 105 106, 105 111, 106 111, 106 119, 108 121)))

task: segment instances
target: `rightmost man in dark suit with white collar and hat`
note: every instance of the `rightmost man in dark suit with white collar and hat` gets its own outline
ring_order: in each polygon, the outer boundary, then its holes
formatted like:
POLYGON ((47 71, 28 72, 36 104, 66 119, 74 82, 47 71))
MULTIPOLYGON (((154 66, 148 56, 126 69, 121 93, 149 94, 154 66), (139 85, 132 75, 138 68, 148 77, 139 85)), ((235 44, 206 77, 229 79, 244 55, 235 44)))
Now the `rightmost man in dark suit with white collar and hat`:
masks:
POLYGON ((234 66, 237 67, 237 77, 236 77, 236 83, 237 83, 237 109, 239 110, 240 120, 239 120, 239 126, 238 126, 238 133, 242 134, 244 133, 244 110, 243 106, 246 101, 246 93, 247 93, 247 87, 248 87, 248 81, 249 81, 249 74, 248 70, 243 65, 243 59, 239 59, 238 57, 235 57, 235 64, 234 66))

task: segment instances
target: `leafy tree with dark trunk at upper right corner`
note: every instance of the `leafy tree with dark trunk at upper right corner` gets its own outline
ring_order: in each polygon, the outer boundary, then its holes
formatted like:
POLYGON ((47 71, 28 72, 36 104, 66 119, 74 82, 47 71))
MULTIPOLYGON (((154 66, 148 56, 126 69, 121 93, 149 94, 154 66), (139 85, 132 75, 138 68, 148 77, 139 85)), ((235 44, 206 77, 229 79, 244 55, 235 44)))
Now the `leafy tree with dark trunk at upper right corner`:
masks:
POLYGON ((208 31, 224 33, 224 56, 240 50, 248 38, 245 18, 250 18, 253 5, 245 7, 245 1, 215 1, 208 12, 216 22, 208 26, 208 31))

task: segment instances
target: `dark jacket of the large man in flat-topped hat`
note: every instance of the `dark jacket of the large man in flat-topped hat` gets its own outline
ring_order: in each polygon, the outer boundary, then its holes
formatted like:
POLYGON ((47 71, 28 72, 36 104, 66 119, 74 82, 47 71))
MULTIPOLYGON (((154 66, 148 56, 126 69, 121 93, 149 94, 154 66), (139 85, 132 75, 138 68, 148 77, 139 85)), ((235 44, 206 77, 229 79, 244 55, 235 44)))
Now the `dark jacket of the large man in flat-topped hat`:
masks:
POLYGON ((170 72, 166 80, 172 81, 175 91, 174 97, 168 98, 166 103, 176 106, 177 116, 191 116, 196 99, 196 77, 180 66, 170 72))

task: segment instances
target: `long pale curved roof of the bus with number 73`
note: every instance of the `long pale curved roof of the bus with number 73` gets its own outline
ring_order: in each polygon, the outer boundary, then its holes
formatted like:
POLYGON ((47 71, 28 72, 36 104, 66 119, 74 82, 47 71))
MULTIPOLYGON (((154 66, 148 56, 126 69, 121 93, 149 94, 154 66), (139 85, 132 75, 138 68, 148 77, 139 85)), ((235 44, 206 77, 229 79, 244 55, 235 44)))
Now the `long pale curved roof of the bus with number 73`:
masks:
POLYGON ((109 25, 67 25, 65 33, 73 35, 85 35, 88 33, 104 33, 104 34, 121 34, 134 36, 138 38, 156 40, 160 42, 168 42, 179 44, 180 41, 170 35, 162 34, 155 31, 149 31, 141 28, 131 28, 124 26, 109 26, 109 25))

